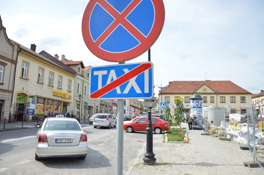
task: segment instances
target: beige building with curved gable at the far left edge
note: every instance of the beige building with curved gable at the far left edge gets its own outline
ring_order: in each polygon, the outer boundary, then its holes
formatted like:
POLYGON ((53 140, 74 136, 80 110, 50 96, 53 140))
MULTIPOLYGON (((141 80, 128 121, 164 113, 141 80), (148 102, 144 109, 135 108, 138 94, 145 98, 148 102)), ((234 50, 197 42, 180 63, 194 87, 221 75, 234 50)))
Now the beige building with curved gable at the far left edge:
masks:
POLYGON ((18 45, 11 43, 0 16, 0 122, 10 121, 11 99, 14 88, 14 75, 18 45))

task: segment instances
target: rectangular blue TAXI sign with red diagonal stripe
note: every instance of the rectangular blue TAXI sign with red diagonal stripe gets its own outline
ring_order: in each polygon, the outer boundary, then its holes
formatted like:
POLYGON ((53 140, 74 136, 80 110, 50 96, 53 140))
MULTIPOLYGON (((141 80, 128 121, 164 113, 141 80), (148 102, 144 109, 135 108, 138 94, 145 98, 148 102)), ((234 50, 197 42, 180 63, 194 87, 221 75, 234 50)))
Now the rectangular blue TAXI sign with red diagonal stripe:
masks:
POLYGON ((95 66, 90 75, 91 99, 145 99, 153 96, 152 62, 95 66))

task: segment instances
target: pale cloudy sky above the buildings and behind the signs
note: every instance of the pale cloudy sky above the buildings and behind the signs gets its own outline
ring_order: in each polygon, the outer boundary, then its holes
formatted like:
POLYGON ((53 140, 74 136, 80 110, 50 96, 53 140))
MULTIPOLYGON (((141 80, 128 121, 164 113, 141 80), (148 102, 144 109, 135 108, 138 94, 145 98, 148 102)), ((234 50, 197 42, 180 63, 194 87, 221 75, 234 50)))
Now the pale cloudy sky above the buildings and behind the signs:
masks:
MULTIPOLYGON (((86 47, 81 21, 88 0, 0 0, 7 36, 36 52, 65 55, 84 66, 104 61, 86 47)), ((230 80, 257 94, 264 90, 263 0, 163 0, 165 22, 151 47, 154 85, 172 81, 230 80)), ((143 53, 125 63, 147 62, 143 53)), ((159 88, 154 88, 158 96, 159 88)))

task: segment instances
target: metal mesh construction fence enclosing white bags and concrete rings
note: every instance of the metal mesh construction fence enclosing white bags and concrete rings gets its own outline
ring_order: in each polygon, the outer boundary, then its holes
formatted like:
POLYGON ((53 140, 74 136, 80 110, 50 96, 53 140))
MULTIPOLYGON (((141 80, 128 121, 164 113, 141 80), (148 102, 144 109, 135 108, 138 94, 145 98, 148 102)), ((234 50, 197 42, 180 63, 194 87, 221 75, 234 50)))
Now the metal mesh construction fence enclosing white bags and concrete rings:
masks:
POLYGON ((258 113, 261 111, 260 102, 243 110, 204 110, 203 127, 208 134, 237 143, 240 148, 241 146, 247 147, 251 152, 253 162, 264 169, 264 115, 258 113), (234 111, 239 111, 239 113, 233 113, 234 111))

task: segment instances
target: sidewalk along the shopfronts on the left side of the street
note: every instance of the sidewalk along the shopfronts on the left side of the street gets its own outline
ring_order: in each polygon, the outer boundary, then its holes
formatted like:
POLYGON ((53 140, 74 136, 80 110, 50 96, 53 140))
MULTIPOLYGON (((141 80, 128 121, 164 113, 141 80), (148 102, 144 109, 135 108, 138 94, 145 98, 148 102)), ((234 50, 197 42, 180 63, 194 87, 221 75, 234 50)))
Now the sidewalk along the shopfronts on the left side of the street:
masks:
MULTIPOLYGON (((42 125, 43 121, 38 120, 38 123, 42 125)), ((80 123, 89 123, 88 119, 80 119, 80 123)), ((0 132, 2 131, 10 131, 10 130, 23 130, 23 129, 31 129, 36 128, 35 124, 37 124, 37 120, 33 122, 11 122, 8 123, 8 120, 6 120, 6 123, 4 124, 4 121, 1 121, 0 123, 0 132), (23 125, 23 127, 22 127, 23 125), (5 128, 4 128, 5 127, 5 128)))

